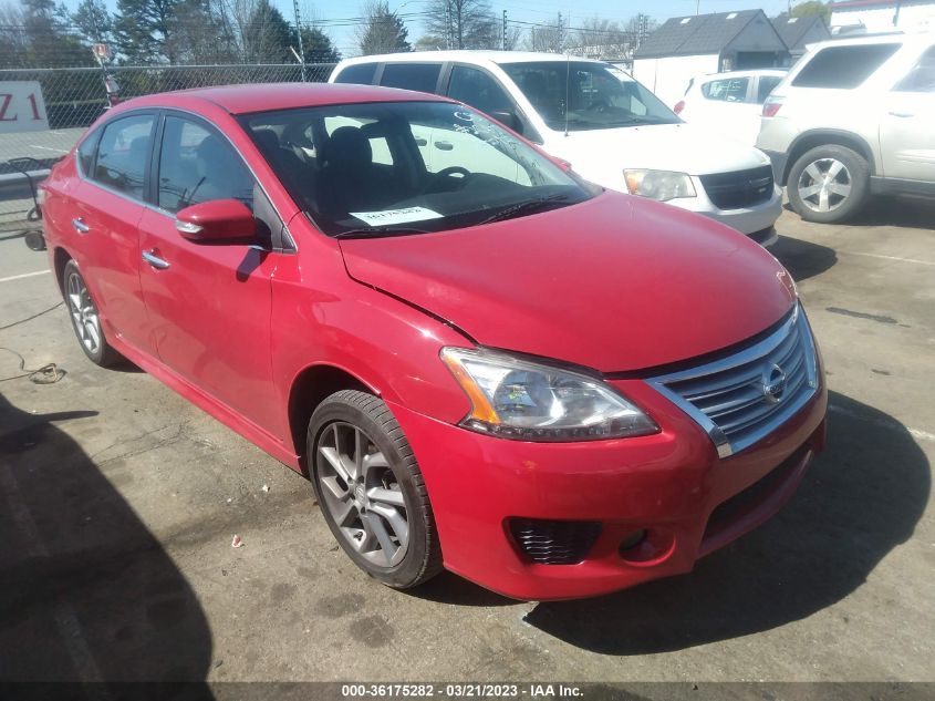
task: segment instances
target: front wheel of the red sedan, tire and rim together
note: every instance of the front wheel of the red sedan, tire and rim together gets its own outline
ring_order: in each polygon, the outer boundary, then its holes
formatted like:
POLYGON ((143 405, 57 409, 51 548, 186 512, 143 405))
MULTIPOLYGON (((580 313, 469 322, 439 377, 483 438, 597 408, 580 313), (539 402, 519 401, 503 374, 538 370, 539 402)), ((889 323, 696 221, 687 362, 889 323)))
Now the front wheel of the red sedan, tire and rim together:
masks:
POLYGON ((408 589, 441 570, 441 548, 422 472, 378 398, 344 390, 309 422, 309 468, 337 543, 372 577, 408 589))

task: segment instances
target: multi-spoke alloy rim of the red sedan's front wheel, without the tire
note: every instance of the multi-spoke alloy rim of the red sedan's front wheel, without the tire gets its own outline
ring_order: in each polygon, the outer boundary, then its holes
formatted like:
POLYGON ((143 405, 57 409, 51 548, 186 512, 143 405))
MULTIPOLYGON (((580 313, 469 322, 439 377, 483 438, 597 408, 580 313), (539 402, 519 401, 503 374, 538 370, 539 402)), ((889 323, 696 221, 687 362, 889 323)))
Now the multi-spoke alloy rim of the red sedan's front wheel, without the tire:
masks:
POLYGON ((346 543, 380 567, 406 555, 406 501, 386 456, 359 426, 335 421, 318 444, 318 478, 324 506, 346 543))

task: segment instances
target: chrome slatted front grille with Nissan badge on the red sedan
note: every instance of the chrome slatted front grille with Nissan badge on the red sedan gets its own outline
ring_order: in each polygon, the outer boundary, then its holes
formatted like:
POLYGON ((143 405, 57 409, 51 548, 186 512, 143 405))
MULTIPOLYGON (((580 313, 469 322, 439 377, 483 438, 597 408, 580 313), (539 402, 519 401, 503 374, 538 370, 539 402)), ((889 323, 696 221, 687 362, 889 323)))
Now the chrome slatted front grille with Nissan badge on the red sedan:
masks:
POLYGON ((797 306, 765 339, 647 382, 697 421, 726 457, 794 415, 817 392, 817 373, 814 341, 797 306))

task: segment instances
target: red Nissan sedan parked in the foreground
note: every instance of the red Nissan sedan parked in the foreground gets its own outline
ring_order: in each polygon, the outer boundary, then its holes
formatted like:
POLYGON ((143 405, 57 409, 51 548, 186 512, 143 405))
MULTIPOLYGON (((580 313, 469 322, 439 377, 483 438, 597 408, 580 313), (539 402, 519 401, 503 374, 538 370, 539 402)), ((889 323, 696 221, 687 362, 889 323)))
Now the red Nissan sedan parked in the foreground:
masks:
POLYGON ((351 85, 132 100, 44 184, 87 357, 292 468, 391 587, 524 599, 692 569, 824 436, 789 274, 461 104, 351 85))

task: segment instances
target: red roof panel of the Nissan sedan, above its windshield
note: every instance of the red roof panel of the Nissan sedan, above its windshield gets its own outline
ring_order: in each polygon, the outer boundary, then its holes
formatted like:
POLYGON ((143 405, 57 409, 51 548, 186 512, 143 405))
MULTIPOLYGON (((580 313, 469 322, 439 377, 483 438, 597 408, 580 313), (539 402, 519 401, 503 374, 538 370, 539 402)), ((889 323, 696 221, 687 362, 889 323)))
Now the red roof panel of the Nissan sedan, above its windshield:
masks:
POLYGON ((429 95, 395 87, 329 83, 259 83, 196 87, 169 93, 156 93, 121 103, 127 107, 193 107, 219 106, 230 114, 249 114, 293 107, 316 107, 360 102, 449 102, 429 95))

